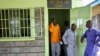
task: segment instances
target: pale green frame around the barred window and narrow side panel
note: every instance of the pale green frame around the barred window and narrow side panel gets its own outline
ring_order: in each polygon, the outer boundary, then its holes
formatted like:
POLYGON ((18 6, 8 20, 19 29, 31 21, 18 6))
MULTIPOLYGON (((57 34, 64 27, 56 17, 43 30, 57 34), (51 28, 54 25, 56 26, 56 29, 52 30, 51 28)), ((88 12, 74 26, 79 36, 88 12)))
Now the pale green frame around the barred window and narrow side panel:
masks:
MULTIPOLYGON (((36 8, 43 8, 43 7, 36 7, 36 8)), ((5 9, 6 8, 4 8, 4 10, 5 9)), ((34 17, 35 8, 7 8, 6 10, 9 10, 9 9, 30 9, 31 37, 13 37, 13 38, 12 37, 1 37, 0 41, 31 41, 31 40, 35 40, 35 37, 43 37, 43 33, 42 33, 42 36, 35 36, 35 17, 34 17)), ((0 10, 3 10, 3 9, 0 9, 0 10)), ((43 12, 44 12, 44 9, 43 9, 43 12)))

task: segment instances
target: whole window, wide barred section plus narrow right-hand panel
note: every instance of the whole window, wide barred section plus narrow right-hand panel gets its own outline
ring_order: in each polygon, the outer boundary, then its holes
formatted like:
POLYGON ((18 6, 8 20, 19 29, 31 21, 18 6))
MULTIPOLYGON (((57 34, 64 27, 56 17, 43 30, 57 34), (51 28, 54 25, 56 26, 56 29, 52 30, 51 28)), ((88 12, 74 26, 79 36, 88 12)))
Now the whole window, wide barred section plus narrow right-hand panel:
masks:
POLYGON ((0 37, 41 37, 43 12, 43 8, 0 9, 0 37))

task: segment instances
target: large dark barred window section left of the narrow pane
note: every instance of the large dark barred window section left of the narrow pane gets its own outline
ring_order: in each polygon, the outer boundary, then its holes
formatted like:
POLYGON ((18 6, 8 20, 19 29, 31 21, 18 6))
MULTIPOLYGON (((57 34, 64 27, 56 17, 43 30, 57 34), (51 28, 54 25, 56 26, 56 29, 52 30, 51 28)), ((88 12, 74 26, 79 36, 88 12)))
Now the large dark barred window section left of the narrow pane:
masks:
POLYGON ((1 9, 0 37, 30 37, 30 9, 1 9))

